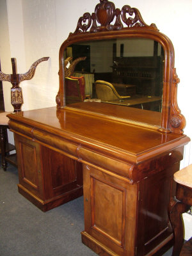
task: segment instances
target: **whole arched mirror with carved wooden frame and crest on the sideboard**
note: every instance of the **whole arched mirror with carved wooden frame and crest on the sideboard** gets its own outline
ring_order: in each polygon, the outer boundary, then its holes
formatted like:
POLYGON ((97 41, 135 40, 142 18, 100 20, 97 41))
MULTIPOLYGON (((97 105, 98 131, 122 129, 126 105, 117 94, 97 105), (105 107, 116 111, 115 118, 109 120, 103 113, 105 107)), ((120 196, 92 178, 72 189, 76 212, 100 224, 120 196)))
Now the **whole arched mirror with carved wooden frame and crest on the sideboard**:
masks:
POLYGON ((182 133, 174 50, 136 8, 100 0, 60 48, 58 108, 182 133))

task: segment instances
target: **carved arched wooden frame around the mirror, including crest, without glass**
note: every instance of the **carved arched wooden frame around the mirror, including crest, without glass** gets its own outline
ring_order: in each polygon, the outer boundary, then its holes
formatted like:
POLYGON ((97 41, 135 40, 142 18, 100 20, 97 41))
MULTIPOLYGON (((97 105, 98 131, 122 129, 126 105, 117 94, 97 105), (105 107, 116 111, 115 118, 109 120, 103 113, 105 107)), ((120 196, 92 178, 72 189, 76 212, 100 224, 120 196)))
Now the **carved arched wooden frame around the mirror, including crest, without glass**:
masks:
POLYGON ((179 78, 174 68, 174 49, 171 40, 163 33, 160 33, 155 24, 148 26, 143 21, 138 9, 125 5, 120 10, 115 8, 115 4, 108 0, 100 0, 100 3, 95 6, 95 12, 92 15, 84 13, 77 22, 76 31, 70 33, 67 40, 60 47, 60 70, 58 73, 60 76, 60 88, 56 96, 57 108, 65 108, 64 51, 69 45, 91 40, 132 37, 150 38, 162 45, 164 50, 164 76, 161 127, 159 127, 159 131, 182 134, 186 120, 180 113, 177 104, 179 78), (127 17, 127 15, 133 17, 127 17))

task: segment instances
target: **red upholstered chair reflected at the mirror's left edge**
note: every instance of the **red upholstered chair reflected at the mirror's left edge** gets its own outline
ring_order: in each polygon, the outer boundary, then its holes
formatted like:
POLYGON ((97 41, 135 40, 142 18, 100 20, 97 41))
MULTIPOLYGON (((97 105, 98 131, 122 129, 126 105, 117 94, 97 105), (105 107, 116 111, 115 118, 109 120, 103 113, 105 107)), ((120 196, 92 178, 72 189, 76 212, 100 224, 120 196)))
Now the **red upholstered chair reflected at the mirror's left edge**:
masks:
POLYGON ((84 77, 65 77, 65 100, 66 104, 83 102, 84 94, 84 77))

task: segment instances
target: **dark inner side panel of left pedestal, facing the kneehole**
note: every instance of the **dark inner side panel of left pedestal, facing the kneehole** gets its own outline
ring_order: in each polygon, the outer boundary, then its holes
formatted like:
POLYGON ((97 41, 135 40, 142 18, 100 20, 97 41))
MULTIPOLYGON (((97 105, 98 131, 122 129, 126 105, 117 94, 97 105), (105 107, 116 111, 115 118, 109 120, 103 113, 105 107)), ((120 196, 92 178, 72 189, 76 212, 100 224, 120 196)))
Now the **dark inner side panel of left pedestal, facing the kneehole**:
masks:
POLYGON ((47 147, 42 147, 42 159, 46 200, 80 188, 82 195, 81 163, 47 147))

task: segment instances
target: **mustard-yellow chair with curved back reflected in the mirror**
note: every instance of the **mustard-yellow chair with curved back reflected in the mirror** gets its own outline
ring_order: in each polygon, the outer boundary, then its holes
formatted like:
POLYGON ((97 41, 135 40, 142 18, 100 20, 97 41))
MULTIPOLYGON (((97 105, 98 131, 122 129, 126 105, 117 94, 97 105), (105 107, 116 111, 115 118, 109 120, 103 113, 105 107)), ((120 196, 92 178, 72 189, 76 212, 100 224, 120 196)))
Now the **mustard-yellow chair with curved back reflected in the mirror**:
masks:
POLYGON ((116 92, 115 87, 113 84, 108 83, 106 81, 97 80, 95 81, 95 90, 97 94, 97 98, 101 101, 108 101, 108 100, 116 100, 119 99, 124 100, 128 99, 130 96, 120 96, 118 92, 116 92))

